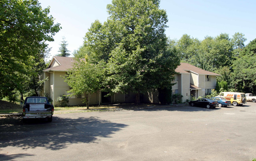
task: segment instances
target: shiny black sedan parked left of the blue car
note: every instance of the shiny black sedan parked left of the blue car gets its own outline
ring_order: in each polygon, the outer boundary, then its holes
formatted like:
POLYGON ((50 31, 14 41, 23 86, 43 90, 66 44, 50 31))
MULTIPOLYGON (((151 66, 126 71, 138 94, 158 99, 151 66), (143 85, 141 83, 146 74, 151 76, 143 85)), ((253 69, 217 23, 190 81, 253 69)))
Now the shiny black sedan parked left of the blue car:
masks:
POLYGON ((206 107, 206 108, 215 108, 217 104, 218 104, 217 101, 213 101, 211 99, 206 99, 206 98, 189 102, 189 105, 191 106, 200 106, 200 107, 206 107))

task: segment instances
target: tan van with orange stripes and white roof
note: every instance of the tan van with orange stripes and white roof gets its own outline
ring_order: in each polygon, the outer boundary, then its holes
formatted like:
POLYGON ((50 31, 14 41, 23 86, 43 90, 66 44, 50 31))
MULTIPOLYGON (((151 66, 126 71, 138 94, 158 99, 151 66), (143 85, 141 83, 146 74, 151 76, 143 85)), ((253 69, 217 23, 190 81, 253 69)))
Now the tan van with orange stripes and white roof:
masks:
POLYGON ((239 92, 221 92, 219 93, 218 96, 216 97, 223 97, 227 100, 230 100, 231 103, 234 105, 234 106, 237 106, 237 105, 243 105, 246 102, 246 97, 245 97, 245 93, 239 93, 239 92))

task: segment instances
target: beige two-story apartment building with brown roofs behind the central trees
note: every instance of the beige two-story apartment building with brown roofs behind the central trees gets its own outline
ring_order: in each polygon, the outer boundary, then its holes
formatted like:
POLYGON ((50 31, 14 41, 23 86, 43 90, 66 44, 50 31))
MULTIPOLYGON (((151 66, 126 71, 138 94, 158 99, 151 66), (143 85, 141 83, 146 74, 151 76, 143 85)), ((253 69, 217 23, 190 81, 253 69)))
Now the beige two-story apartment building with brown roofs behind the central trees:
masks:
MULTIPOLYGON (((60 95, 69 94, 70 87, 65 82, 66 72, 72 68, 74 58, 71 57, 53 57, 48 68, 44 70, 45 81, 43 93, 48 93, 53 100, 54 105, 58 105, 56 98, 60 95)), ((187 63, 181 63, 175 70, 179 74, 176 75, 173 85, 173 93, 183 95, 183 100, 190 98, 190 95, 205 96, 206 93, 211 93, 211 89, 215 89, 216 77, 218 74, 210 71, 205 71, 187 63)), ((135 93, 129 92, 126 94, 115 93, 111 97, 104 97, 106 92, 98 91, 91 93, 89 97, 90 104, 104 103, 127 103, 134 102, 135 93)), ((69 105, 82 105, 85 95, 76 95, 69 98, 69 105)), ((143 102, 160 103, 158 99, 158 91, 148 92, 143 95, 143 102)))

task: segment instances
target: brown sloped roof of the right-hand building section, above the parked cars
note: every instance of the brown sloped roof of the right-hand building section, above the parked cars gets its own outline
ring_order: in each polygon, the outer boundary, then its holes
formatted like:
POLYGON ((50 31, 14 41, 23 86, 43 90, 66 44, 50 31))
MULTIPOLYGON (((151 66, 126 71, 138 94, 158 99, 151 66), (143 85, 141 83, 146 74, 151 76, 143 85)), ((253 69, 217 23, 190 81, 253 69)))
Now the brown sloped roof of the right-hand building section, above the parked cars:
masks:
POLYGON ((184 63, 184 62, 180 63, 180 66, 178 66, 175 71, 178 72, 178 73, 183 73, 183 74, 193 72, 193 73, 197 73, 198 75, 217 75, 217 76, 220 76, 217 73, 202 70, 200 68, 197 68, 196 66, 192 66, 191 64, 184 63))

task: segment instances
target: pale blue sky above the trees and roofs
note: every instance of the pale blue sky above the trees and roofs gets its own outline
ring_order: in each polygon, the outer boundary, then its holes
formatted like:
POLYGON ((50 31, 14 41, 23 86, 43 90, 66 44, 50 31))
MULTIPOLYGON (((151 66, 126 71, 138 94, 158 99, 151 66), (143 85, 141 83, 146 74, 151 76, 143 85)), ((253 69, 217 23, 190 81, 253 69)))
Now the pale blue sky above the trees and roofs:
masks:
MULTIPOLYGON (((105 22, 106 6, 112 0, 39 0, 43 8, 50 6, 50 15, 62 29, 54 36, 51 56, 58 54, 62 37, 68 42, 72 54, 83 45, 83 37, 96 19, 105 22)), ((256 38, 256 0, 161 0, 160 9, 167 12, 167 37, 180 39, 182 35, 203 40, 228 33, 243 33, 248 44, 256 38)))

